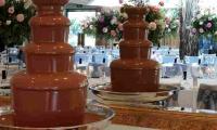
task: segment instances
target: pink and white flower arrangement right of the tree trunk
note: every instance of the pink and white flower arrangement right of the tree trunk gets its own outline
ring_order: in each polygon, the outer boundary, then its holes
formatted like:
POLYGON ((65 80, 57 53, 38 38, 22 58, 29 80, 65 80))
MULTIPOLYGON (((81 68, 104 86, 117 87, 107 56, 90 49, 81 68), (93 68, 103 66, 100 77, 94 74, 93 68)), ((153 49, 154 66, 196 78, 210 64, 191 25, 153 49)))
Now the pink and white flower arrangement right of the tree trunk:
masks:
POLYGON ((205 13, 197 14, 192 20, 191 34, 205 37, 217 36, 217 15, 205 13))

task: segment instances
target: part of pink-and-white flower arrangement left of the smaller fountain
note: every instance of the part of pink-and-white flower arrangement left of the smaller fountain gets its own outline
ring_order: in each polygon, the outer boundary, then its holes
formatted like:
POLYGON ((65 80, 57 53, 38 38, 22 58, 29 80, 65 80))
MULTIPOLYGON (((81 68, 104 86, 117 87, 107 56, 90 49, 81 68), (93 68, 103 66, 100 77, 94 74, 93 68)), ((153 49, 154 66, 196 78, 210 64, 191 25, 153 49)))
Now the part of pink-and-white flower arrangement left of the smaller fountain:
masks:
POLYGON ((123 23, 126 20, 127 15, 120 14, 118 11, 102 9, 97 17, 88 17, 82 22, 82 31, 97 38, 119 40, 123 35, 123 23))

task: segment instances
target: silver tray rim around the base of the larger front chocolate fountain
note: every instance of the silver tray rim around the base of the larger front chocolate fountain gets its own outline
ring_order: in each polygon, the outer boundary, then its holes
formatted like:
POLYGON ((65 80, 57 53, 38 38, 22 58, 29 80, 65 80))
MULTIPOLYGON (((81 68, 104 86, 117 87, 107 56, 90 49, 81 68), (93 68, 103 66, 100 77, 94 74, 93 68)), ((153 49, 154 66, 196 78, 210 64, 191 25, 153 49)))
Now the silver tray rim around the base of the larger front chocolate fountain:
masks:
POLYGON ((0 130, 104 130, 112 122, 115 113, 102 105, 87 105, 85 122, 79 126, 63 126, 53 128, 17 127, 13 123, 13 109, 10 106, 0 107, 0 130))

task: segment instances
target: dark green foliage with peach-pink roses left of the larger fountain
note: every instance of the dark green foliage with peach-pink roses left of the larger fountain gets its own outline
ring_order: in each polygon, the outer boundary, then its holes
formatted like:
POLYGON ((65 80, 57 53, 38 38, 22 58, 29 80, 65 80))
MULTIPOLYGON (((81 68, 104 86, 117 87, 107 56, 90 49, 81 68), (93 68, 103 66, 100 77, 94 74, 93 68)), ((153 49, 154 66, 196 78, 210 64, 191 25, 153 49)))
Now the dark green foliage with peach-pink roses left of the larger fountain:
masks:
POLYGON ((0 0, 0 38, 5 46, 20 46, 29 39, 28 23, 35 15, 30 0, 0 0))

